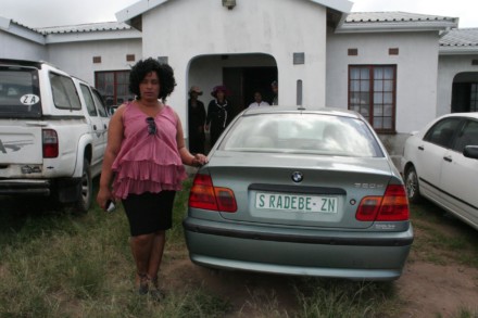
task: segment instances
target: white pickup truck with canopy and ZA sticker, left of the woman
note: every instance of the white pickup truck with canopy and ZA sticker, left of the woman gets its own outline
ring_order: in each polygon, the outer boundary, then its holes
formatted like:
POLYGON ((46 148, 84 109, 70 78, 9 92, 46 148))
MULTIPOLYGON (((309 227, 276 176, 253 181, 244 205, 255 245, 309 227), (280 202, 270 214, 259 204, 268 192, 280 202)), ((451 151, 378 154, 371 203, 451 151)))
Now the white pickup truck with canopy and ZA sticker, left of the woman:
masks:
POLYGON ((89 84, 46 62, 0 59, 0 195, 87 212, 109 124, 89 84))

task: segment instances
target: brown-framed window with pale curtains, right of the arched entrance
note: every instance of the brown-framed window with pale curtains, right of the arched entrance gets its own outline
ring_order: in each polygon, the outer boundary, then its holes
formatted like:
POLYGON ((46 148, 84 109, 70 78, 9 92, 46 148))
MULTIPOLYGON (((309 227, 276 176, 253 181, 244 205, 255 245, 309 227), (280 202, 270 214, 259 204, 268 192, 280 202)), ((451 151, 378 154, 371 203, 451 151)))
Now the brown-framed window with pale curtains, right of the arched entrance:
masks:
POLYGON ((394 65, 349 66, 349 110, 362 114, 377 132, 395 132, 394 65))

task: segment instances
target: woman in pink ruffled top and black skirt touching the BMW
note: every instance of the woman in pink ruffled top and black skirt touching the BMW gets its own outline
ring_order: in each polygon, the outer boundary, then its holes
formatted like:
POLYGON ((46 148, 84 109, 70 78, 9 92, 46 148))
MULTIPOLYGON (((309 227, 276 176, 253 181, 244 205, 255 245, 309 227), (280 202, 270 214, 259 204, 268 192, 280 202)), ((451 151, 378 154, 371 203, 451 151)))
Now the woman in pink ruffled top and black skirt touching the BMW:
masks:
POLYGON ((203 154, 193 156, 186 149, 179 117, 164 104, 175 86, 171 66, 151 58, 139 61, 129 76, 129 90, 137 98, 117 109, 108 132, 97 201, 103 209, 109 200, 123 202, 139 294, 159 291, 173 202, 186 178, 183 164, 206 162, 203 154))

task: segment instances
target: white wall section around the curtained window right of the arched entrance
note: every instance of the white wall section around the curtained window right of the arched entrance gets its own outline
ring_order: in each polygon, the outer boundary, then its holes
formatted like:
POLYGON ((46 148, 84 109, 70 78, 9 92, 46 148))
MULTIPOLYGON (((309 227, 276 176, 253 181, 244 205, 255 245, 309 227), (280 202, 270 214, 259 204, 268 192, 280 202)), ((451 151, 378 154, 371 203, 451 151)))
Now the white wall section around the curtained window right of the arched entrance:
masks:
POLYGON ((327 105, 348 107, 349 65, 397 65, 397 132, 420 129, 436 116, 438 41, 436 33, 329 35, 327 105), (389 55, 389 48, 399 55, 389 55), (349 56, 348 49, 358 55, 349 56))

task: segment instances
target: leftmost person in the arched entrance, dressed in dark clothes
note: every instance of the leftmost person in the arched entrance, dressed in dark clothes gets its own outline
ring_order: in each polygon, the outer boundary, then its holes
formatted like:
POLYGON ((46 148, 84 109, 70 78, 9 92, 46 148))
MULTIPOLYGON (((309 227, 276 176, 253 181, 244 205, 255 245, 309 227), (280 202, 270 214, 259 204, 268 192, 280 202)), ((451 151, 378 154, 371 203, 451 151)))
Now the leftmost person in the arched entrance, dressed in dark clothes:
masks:
POLYGON ((201 89, 198 86, 192 86, 189 89, 188 100, 189 151, 191 153, 204 153, 205 107, 204 104, 198 100, 199 96, 202 96, 201 89))

